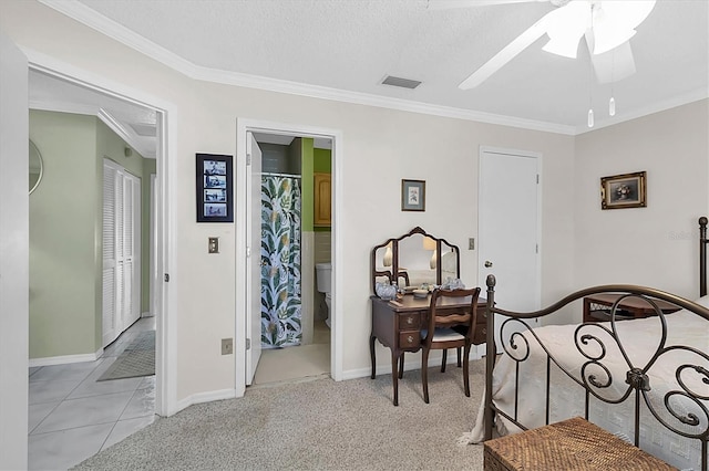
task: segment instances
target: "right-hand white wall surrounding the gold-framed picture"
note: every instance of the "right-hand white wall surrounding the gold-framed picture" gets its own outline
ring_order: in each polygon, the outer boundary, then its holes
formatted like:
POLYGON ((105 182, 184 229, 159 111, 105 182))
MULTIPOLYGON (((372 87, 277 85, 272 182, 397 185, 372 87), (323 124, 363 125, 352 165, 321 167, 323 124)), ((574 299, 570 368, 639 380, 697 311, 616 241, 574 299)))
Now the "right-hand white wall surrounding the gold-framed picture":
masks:
POLYGON ((699 296, 698 219, 709 207, 709 101, 576 138, 578 287, 643 284, 699 296), (647 171, 647 208, 600 209, 600 178, 647 171))

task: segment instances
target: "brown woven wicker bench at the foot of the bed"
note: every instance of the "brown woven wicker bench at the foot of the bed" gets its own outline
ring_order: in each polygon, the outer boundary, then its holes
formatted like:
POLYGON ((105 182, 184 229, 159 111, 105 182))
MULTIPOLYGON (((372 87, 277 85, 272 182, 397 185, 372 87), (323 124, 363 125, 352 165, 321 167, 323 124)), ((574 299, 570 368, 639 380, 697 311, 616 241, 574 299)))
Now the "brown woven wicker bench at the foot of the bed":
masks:
POLYGON ((484 469, 676 470, 580 417, 486 441, 484 469))

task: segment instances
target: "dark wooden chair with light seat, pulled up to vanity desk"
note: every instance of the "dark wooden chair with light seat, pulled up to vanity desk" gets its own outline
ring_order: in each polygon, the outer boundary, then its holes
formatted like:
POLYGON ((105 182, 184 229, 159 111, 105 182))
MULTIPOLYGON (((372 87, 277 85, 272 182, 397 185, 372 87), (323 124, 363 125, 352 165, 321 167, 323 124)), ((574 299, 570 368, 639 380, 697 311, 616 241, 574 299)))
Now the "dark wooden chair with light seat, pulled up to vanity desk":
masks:
MULTIPOLYGON (((461 290, 435 290, 431 294, 428 325, 421 329, 421 380, 423 383, 423 400, 429 404, 429 353, 432 349, 463 348, 463 385, 465 396, 470 397, 469 356, 475 325, 477 322, 477 296, 480 287, 461 290), (451 310, 445 306, 446 297, 470 296, 465 307, 451 310), (455 327, 455 328, 453 328, 455 327)), ((445 362, 445 360, 444 360, 445 362)), ((441 370, 444 371, 445 363, 441 370)))

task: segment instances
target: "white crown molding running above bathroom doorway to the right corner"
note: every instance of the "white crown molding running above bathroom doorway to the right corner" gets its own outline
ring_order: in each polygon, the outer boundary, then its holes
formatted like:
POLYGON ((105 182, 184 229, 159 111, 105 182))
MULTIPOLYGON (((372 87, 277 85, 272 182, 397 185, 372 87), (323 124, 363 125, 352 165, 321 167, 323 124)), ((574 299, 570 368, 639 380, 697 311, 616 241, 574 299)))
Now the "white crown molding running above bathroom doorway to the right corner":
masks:
POLYGON ((219 83, 225 85, 257 88, 268 92, 308 96, 357 105, 376 106, 410 113, 420 113, 441 117, 465 119, 501 126, 517 127, 531 130, 574 135, 574 126, 523 119, 492 113, 474 112, 451 106, 431 105, 421 102, 390 98, 373 94, 349 92, 325 86, 308 85, 284 80, 268 78, 258 75, 243 74, 224 70, 215 70, 196 65, 177 54, 155 44, 122 24, 100 14, 78 0, 39 0, 47 7, 72 18, 86 27, 121 42, 122 44, 186 75, 193 80, 219 83))

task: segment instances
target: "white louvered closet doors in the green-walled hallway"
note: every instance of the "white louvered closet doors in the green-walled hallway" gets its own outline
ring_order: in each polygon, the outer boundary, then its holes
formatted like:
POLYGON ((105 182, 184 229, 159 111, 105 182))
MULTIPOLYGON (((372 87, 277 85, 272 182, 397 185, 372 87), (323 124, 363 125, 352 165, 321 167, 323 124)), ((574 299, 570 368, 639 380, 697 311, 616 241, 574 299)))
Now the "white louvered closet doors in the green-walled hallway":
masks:
POLYGON ((103 166, 103 346, 141 315, 141 180, 115 163, 103 166))

